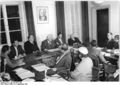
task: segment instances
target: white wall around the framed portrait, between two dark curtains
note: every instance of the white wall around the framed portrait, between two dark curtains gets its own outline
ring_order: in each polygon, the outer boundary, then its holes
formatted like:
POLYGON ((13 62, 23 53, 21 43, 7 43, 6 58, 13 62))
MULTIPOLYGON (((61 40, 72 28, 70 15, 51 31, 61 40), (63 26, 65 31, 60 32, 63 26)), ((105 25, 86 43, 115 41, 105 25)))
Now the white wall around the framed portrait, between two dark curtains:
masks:
POLYGON ((46 39, 48 34, 53 34, 55 38, 57 35, 57 26, 56 26, 56 9, 54 0, 33 0, 33 17, 35 23, 35 32, 37 37, 37 42, 40 47, 41 41, 46 39), (37 21, 37 7, 47 6, 48 7, 48 23, 40 24, 37 21))

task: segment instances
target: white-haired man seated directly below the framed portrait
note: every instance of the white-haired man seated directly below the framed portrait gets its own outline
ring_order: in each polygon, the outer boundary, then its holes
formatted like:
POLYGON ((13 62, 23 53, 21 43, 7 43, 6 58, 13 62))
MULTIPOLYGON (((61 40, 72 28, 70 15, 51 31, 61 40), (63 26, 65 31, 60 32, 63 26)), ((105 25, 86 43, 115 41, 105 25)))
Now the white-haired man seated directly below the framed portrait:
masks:
POLYGON ((53 40, 52 34, 49 34, 47 36, 47 39, 42 41, 41 50, 43 52, 49 52, 50 50, 53 50, 55 48, 57 48, 57 45, 55 41, 53 40))

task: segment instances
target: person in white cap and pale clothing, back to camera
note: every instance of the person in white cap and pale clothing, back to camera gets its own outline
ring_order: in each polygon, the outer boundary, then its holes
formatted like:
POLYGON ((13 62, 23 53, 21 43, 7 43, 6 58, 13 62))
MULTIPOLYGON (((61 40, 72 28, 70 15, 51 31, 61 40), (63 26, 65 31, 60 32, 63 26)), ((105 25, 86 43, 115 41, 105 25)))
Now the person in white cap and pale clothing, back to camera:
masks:
POLYGON ((88 56, 86 47, 79 48, 82 61, 76 66, 75 70, 71 72, 71 77, 74 81, 91 81, 92 80, 92 59, 88 56))

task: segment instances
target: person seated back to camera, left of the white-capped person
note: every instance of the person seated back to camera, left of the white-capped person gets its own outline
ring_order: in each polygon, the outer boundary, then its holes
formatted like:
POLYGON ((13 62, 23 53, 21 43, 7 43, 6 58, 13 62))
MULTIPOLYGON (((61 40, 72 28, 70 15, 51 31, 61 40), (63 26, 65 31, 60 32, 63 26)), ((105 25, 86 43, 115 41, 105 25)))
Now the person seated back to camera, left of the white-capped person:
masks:
POLYGON ((57 62, 54 71, 57 71, 58 74, 62 74, 64 72, 70 71, 72 58, 70 51, 68 50, 68 46, 65 44, 62 48, 63 54, 57 58, 57 62))

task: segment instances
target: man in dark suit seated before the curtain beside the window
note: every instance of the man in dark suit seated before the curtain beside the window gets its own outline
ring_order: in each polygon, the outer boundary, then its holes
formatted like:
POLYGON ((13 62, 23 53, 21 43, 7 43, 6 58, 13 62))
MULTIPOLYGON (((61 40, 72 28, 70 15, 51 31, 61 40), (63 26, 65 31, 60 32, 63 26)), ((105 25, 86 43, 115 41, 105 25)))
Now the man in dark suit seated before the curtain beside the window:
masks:
POLYGON ((28 54, 32 54, 32 53, 36 53, 39 51, 39 48, 37 46, 37 43, 34 40, 34 36, 30 35, 28 37, 28 41, 25 42, 24 44, 24 49, 25 49, 25 53, 28 54))

